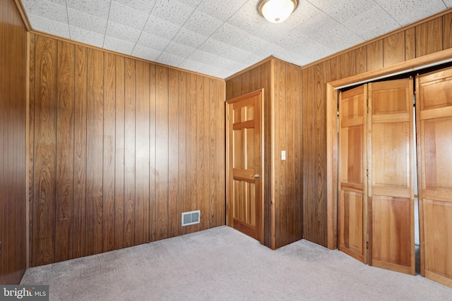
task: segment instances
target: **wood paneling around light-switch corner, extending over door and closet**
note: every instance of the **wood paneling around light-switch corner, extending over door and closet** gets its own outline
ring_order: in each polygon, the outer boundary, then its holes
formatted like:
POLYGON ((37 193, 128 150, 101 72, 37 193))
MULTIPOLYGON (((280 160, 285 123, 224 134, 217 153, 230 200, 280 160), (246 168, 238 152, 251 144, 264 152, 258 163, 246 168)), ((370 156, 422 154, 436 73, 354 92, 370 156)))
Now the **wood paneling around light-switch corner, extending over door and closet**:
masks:
POLYGON ((227 78, 226 99, 261 88, 266 91, 266 142, 274 139, 275 152, 272 162, 268 143, 265 147, 266 245, 271 246, 272 235, 275 235, 274 247, 298 240, 302 229, 302 238, 327 246, 328 231, 335 231, 327 226, 326 83, 452 48, 451 11, 316 61, 300 71, 296 66, 270 59, 227 78), (273 69, 270 68, 272 60, 273 69), (271 76, 275 79, 274 86, 270 83, 271 76), (272 95, 269 91, 273 90, 272 95), (275 97, 274 112, 270 111, 270 97, 275 97), (274 118, 273 132, 270 118, 274 118), (292 148, 295 150, 287 154, 293 158, 288 156, 287 161, 280 161, 280 151, 292 148), (276 209, 273 234, 272 190, 276 209))

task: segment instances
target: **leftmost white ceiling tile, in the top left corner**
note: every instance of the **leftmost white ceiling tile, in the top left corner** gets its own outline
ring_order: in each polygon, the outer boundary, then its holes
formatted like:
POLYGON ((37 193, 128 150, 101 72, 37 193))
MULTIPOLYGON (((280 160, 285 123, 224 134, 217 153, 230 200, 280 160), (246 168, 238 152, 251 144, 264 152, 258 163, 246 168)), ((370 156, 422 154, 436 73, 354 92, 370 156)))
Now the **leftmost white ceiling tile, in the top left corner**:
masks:
POLYGON ((66 6, 54 4, 50 1, 23 0, 22 2, 29 15, 35 15, 59 23, 68 23, 66 6))

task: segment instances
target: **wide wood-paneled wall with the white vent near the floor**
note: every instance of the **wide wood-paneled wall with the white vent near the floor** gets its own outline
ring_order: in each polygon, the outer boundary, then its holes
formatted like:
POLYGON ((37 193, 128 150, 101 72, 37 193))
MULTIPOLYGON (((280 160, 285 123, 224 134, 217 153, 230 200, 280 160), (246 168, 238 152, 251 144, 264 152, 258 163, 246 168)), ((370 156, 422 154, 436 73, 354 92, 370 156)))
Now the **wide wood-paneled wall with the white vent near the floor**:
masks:
POLYGON ((223 80, 38 34, 30 61, 32 266, 225 224, 223 80))

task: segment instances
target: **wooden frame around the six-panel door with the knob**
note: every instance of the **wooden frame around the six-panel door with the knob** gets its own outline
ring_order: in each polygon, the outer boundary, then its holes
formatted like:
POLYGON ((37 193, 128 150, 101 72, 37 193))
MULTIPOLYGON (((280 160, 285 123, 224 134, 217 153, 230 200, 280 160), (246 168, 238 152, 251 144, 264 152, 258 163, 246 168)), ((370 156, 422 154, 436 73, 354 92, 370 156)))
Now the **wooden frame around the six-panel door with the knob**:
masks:
MULTIPOLYGON (((228 113, 229 113, 229 109, 228 107, 232 104, 234 104, 235 102, 240 102, 243 99, 247 99, 249 97, 254 97, 256 95, 261 95, 259 102, 261 102, 261 110, 258 112, 260 114, 261 117, 261 171, 259 172, 259 174, 261 175, 261 220, 259 221, 259 223, 261 224, 260 229, 258 229, 259 231, 259 241, 261 242, 261 245, 263 245, 264 243, 264 199, 265 199, 265 152, 264 152, 264 137, 265 137, 265 128, 264 128, 264 122, 263 122, 263 112, 264 112, 264 106, 265 106, 265 102, 263 99, 263 89, 259 89, 253 92, 249 92, 243 95, 240 95, 239 97, 234 97, 232 99, 227 99, 225 101, 225 135, 226 135, 226 202, 225 202, 225 211, 226 211, 226 226, 231 226, 230 225, 230 211, 228 210, 227 206, 229 204, 229 199, 230 199, 230 185, 232 185, 232 183, 230 183, 230 136, 229 136, 229 130, 230 130, 230 124, 229 124, 229 120, 228 120, 228 113)), ((257 113, 257 112, 255 112, 257 113)))

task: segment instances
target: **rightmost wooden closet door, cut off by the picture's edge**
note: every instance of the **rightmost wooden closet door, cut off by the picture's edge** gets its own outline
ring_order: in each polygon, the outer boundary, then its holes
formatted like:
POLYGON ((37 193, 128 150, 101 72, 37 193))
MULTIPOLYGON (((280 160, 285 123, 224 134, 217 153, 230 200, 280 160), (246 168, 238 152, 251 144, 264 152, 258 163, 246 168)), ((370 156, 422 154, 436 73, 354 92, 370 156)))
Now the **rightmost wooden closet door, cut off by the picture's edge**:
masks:
POLYGON ((452 287, 452 68, 416 85, 421 274, 452 287))

